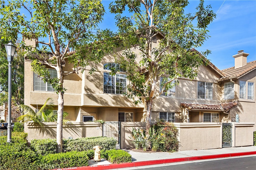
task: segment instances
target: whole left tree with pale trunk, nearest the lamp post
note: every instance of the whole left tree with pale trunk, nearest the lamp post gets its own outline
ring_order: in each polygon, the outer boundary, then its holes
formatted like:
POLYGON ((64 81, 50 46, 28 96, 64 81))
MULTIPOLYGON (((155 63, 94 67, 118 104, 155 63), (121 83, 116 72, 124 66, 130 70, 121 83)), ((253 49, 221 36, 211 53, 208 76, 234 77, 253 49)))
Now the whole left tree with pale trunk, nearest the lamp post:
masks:
MULTIPOLYGON (((1 1, 1 8, 1 39, 16 40, 22 35, 36 40, 36 48, 23 47, 33 60, 33 71, 58 95, 57 152, 62 152, 64 77, 99 62, 112 49, 111 31, 98 29, 103 5, 99 0, 12 0, 1 1), (67 62, 73 65, 71 71, 63 71, 67 62), (47 67, 56 69, 57 78, 50 77, 47 67)), ((91 66, 90 73, 94 70, 91 66)))

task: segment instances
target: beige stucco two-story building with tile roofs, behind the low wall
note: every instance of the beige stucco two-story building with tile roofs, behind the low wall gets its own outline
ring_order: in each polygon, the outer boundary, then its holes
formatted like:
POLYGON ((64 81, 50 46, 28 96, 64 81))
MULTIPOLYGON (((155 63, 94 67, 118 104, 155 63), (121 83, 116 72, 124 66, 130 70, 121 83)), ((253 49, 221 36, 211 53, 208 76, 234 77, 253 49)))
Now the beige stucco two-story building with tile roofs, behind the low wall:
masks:
MULTIPOLYGON (((155 46, 159 43, 156 37, 155 46)), ((35 45, 29 42, 30 45, 35 45)), ((139 53, 138 50, 134 50, 139 53)), ((111 55, 103 57, 92 75, 88 67, 82 73, 71 74, 64 79, 64 111, 67 119, 86 122, 102 119, 104 121, 144 122, 144 104, 135 105, 126 99, 123 92, 128 83, 125 73, 109 74, 115 64, 114 56, 122 55, 120 48, 111 55)), ((239 51, 234 55, 235 66, 219 70, 210 63, 200 66, 194 80, 179 78, 179 85, 170 89, 153 101, 152 122, 157 118, 169 122, 256 122, 255 81, 256 61, 247 63, 249 54, 239 51)), ((229 56, 226 56, 229 57, 229 56)), ((231 57, 231 56, 230 56, 231 57)), ((66 61, 64 71, 72 70, 66 61)), ((56 70, 50 69, 52 77, 56 70)), ((57 95, 51 85, 44 83, 31 69, 30 60, 25 60, 25 105, 39 109, 51 97, 57 105, 57 95)), ((158 88, 160 87, 159 78, 158 88)), ((57 110, 57 107, 56 107, 57 110)))

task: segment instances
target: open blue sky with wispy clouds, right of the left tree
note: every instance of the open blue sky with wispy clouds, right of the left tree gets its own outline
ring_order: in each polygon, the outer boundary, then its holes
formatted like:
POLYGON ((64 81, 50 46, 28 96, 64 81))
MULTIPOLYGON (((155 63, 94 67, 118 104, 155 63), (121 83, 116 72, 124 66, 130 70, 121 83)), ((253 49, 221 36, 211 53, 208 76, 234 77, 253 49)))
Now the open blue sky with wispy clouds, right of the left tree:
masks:
MULTIPOLYGON (((111 1, 102 1, 106 14, 100 24, 101 29, 117 31, 115 15, 111 14, 108 5, 111 1)), ((232 55, 244 50, 249 53, 247 62, 256 60, 256 1, 205 1, 217 13, 216 19, 209 25, 211 36, 198 51, 211 50, 208 59, 219 69, 234 66, 232 55), (223 5, 222 5, 223 4, 223 5), (221 6, 222 5, 222 6, 221 6), (220 8, 221 7, 221 8, 220 8)), ((185 11, 194 13, 199 1, 189 1, 185 11)), ((130 16, 128 13, 123 15, 130 16)))

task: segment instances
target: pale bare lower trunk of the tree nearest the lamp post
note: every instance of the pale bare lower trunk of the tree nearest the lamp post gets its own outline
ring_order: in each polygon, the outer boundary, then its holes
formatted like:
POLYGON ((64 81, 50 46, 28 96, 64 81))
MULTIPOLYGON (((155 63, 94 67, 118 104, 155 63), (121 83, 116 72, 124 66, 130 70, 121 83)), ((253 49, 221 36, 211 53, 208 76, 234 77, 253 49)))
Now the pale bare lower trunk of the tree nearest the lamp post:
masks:
POLYGON ((62 152, 62 126, 63 126, 63 94, 64 92, 59 92, 58 94, 58 119, 57 119, 57 153, 62 152))

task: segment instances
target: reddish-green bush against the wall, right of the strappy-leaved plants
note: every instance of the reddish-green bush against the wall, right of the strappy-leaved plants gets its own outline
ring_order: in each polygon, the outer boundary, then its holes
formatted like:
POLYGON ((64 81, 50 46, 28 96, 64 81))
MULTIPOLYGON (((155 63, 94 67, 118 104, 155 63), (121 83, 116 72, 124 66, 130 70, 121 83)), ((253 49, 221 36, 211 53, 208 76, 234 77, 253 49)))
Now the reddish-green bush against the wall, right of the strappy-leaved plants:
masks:
POLYGON ((179 131, 176 126, 171 122, 163 122, 158 120, 157 124, 154 126, 156 131, 163 135, 164 143, 159 145, 159 150, 163 152, 176 152, 179 150, 179 131))

